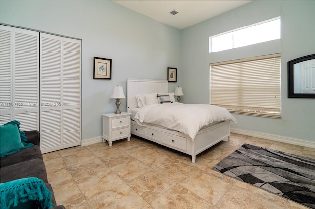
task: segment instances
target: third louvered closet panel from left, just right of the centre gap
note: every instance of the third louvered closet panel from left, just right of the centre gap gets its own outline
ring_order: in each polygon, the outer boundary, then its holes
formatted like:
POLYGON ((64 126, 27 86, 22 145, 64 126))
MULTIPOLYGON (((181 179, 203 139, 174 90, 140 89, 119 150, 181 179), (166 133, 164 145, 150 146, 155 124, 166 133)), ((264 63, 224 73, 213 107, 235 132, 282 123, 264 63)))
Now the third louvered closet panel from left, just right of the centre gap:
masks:
POLYGON ((62 149, 62 37, 40 34, 40 148, 62 149))

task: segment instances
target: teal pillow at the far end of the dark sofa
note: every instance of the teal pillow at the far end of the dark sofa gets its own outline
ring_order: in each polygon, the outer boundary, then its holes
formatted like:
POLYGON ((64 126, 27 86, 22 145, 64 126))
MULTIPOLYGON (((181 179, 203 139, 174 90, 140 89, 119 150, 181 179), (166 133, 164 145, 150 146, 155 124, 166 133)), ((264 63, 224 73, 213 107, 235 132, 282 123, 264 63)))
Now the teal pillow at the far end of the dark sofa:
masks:
POLYGON ((16 124, 0 126, 0 154, 20 150, 24 145, 21 141, 20 130, 16 124))

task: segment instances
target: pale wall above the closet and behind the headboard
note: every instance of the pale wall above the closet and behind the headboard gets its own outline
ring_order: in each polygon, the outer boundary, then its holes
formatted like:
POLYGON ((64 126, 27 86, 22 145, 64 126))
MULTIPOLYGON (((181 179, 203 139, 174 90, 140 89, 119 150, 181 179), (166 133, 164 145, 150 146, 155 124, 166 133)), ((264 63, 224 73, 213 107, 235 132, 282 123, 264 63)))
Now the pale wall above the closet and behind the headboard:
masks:
MULTIPOLYGON (((128 78, 167 79, 179 68, 180 30, 111 1, 3 1, 3 24, 82 39, 82 140, 100 137, 101 114, 116 110, 112 87, 128 78), (93 57, 112 59, 112 79, 93 79, 93 57)), ((169 85, 174 91, 176 83, 169 85)), ((126 98, 120 110, 126 111, 126 98)))

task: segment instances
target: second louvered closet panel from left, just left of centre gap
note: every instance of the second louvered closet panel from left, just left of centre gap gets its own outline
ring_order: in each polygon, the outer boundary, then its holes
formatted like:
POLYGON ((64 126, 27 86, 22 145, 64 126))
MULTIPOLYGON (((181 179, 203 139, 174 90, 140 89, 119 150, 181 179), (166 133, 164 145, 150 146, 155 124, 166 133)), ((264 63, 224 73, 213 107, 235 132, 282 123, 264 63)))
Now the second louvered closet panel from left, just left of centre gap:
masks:
POLYGON ((14 120, 21 130, 39 129, 39 32, 13 29, 14 120))

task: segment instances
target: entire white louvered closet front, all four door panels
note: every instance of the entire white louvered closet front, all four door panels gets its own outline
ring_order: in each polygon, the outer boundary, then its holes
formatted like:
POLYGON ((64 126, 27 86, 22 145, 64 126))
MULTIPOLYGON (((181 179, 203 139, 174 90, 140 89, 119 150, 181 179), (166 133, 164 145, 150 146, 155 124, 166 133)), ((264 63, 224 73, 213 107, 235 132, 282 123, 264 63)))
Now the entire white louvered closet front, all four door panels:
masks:
POLYGON ((42 153, 81 144, 81 40, 0 26, 0 125, 39 130, 42 153))

